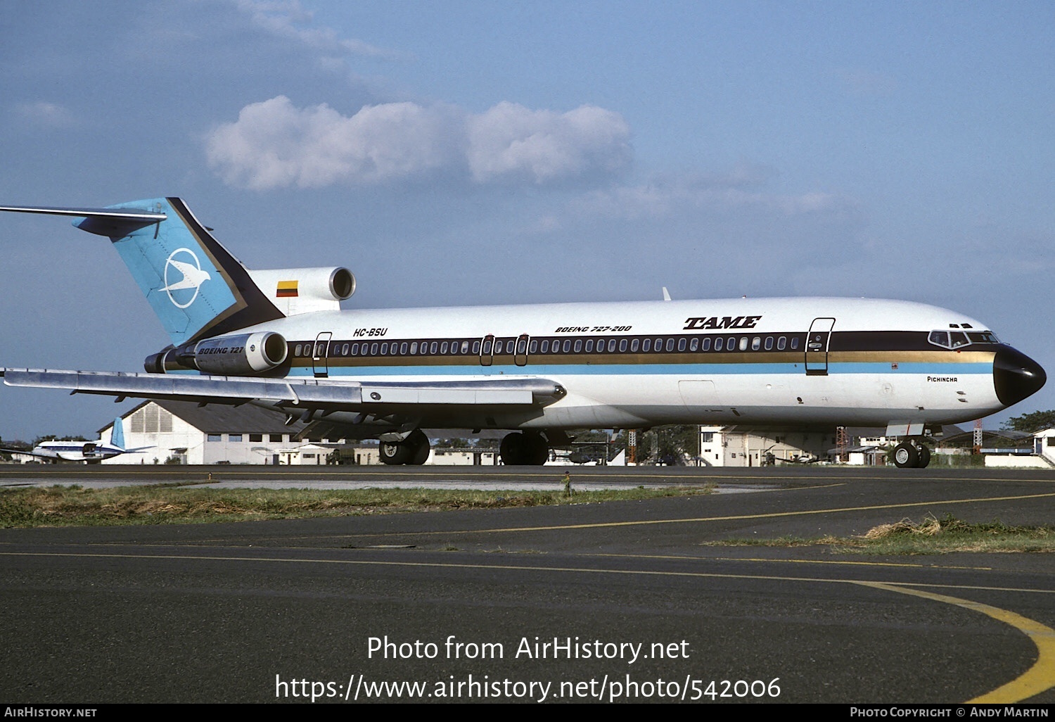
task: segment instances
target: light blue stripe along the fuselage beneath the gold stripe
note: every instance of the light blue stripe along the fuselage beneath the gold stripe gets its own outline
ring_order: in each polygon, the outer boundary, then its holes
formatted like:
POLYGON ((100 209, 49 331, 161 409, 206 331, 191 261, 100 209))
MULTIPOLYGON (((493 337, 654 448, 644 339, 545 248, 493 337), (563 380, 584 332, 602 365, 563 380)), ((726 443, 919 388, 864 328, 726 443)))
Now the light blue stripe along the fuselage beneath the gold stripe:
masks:
MULTIPOLYGON (((890 368, 889 362, 829 363, 829 375, 843 374, 928 374, 960 376, 992 374, 989 363, 925 363, 901 362, 890 368)), ((646 363, 646 364, 539 364, 528 366, 331 366, 330 377, 362 376, 723 376, 723 375, 800 375, 803 364, 789 363, 646 363)), ((290 376, 314 376, 311 366, 290 369, 290 376)))

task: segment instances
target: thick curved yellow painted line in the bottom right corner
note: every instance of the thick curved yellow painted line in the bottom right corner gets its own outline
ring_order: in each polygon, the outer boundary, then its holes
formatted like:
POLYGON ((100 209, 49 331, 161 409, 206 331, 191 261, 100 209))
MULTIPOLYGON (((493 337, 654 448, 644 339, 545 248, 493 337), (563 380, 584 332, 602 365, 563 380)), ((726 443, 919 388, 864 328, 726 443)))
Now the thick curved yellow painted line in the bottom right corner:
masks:
POLYGON ((901 594, 922 596, 926 600, 944 602, 945 604, 955 604, 958 607, 981 612, 998 622, 1009 624, 1030 638, 1030 641, 1037 647, 1037 661, 1033 666, 1011 682, 980 697, 967 700, 966 704, 1013 704, 1039 695, 1055 686, 1055 629, 1027 619, 1021 614, 1008 611, 1006 609, 991 607, 987 604, 961 600, 956 596, 935 594, 921 589, 905 589, 899 585, 883 584, 882 582, 858 582, 857 584, 899 592, 901 594))

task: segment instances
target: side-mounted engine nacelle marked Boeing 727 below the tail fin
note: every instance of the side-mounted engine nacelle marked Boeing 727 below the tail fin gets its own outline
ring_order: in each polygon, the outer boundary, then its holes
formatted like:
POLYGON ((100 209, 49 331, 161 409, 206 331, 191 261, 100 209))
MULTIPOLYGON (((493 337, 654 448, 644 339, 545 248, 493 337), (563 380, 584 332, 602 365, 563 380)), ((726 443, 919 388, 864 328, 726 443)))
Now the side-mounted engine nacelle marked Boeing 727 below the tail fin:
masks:
POLYGON ((149 373, 191 368, 222 376, 248 376, 281 365, 288 354, 286 339, 274 331, 218 336, 185 343, 147 357, 149 373))

